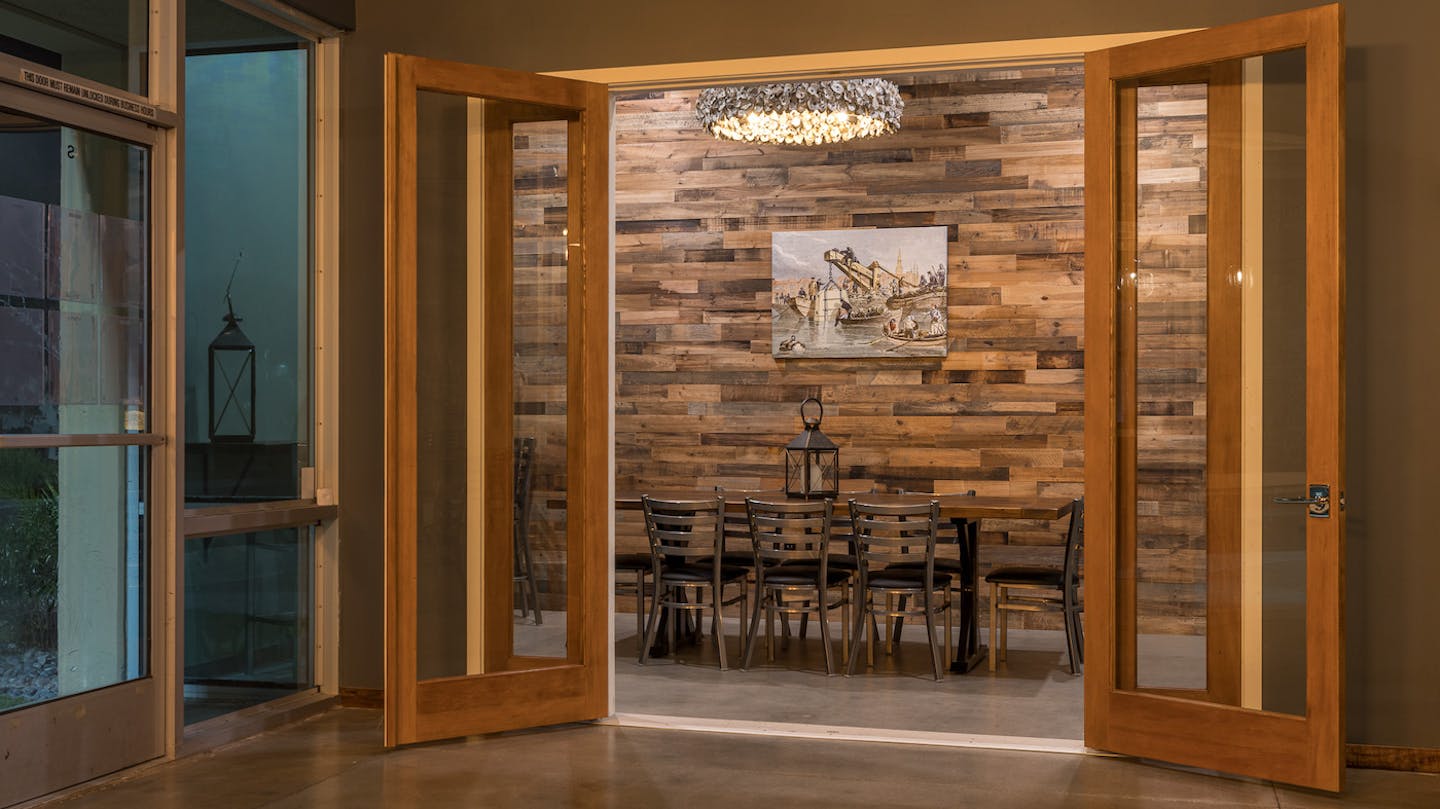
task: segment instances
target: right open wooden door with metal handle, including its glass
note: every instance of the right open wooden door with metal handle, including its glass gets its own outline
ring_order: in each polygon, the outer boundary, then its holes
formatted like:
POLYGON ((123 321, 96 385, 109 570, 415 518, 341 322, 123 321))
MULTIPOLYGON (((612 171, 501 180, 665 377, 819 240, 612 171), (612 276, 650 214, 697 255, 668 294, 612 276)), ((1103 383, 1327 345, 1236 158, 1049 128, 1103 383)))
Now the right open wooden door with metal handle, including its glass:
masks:
POLYGON ((1339 6, 1086 56, 1086 744, 1339 790, 1339 6))

